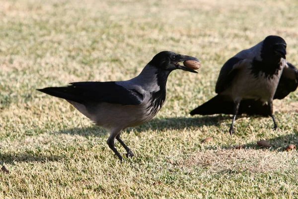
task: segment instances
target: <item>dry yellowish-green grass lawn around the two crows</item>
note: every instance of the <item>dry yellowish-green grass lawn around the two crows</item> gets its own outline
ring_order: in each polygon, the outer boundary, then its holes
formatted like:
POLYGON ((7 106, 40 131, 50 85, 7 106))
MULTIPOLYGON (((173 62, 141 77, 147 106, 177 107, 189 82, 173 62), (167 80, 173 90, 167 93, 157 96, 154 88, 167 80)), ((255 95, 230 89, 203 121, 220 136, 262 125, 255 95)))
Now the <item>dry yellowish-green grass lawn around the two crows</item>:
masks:
POLYGON ((215 96, 224 62, 267 35, 282 36, 298 66, 297 10, 296 0, 0 0, 0 165, 10 171, 0 198, 298 198, 298 152, 284 151, 298 145, 298 92, 274 101, 277 131, 270 117, 240 116, 231 137, 231 115, 188 114, 215 96), (35 91, 127 80, 163 50, 202 68, 170 74, 155 118, 123 132, 136 154, 124 163, 107 130, 35 91))

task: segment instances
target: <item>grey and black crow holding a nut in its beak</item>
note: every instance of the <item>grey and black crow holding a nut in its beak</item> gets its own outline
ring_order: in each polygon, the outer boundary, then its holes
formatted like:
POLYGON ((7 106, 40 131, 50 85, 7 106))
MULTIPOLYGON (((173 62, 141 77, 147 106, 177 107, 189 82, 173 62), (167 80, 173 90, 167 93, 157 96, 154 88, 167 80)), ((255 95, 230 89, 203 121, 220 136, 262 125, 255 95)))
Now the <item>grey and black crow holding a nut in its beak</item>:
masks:
POLYGON ((167 78, 173 70, 197 73, 179 64, 187 60, 199 61, 195 57, 163 51, 156 54, 140 75, 131 80, 75 82, 67 87, 49 87, 38 91, 67 100, 96 125, 110 129, 107 143, 122 160, 115 148, 115 138, 127 151, 127 157, 134 156, 121 140, 121 131, 143 124, 155 116, 164 103, 167 78))

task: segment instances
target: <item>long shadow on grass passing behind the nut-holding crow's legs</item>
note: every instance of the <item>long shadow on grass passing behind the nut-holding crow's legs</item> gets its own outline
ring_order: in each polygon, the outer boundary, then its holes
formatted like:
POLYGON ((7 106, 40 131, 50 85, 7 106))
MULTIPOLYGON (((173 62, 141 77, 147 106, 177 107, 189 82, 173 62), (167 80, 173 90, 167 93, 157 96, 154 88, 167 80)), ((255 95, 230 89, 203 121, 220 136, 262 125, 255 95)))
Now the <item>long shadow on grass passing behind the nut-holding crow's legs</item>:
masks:
MULTIPOLYGON (((129 133, 131 131, 140 133, 147 130, 164 130, 164 129, 184 129, 187 127, 195 127, 199 128, 201 126, 219 126, 222 120, 230 119, 231 117, 228 115, 216 115, 216 116, 203 116, 203 117, 170 117, 170 118, 161 118, 161 119, 152 119, 147 123, 144 123, 139 126, 130 127, 124 129, 125 133, 129 133)), ((65 133, 65 134, 77 134, 81 136, 100 136, 109 134, 110 131, 98 126, 90 126, 87 128, 70 128, 58 131, 57 133, 65 133)))

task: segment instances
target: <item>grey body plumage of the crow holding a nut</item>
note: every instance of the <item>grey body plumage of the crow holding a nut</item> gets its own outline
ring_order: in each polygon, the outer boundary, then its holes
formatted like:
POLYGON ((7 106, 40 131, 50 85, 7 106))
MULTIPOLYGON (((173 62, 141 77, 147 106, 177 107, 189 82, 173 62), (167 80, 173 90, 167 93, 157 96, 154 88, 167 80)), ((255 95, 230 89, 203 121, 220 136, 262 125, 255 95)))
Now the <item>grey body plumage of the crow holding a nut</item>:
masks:
POLYGON ((69 100, 81 113, 94 121, 96 125, 108 129, 122 130, 127 127, 137 126, 152 119, 163 105, 151 106, 154 101, 152 93, 160 91, 157 84, 157 70, 147 65, 142 73, 128 81, 118 81, 115 84, 124 87, 127 90, 135 90, 143 96, 143 101, 138 105, 121 105, 107 102, 101 102, 91 105, 84 105, 69 100))

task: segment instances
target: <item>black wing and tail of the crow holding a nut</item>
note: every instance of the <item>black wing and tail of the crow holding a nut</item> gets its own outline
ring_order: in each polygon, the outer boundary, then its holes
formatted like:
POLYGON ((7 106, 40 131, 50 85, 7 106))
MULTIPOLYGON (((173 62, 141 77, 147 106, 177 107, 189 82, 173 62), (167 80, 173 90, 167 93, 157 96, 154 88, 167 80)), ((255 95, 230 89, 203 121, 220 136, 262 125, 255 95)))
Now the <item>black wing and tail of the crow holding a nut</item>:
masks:
POLYGON ((75 82, 67 87, 49 87, 38 91, 82 104, 107 102, 138 105, 143 101, 142 94, 117 85, 116 82, 75 82))

